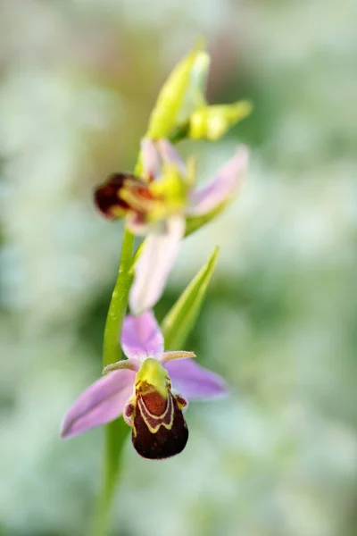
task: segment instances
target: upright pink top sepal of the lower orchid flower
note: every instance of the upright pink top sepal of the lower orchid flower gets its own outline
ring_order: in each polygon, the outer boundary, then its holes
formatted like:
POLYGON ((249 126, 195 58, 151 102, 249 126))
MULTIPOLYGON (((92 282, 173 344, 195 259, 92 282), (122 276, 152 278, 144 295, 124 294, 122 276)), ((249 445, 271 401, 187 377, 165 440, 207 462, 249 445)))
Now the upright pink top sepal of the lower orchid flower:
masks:
POLYGON ((162 353, 162 331, 153 311, 145 311, 139 316, 126 316, 121 332, 121 346, 128 357, 162 353))

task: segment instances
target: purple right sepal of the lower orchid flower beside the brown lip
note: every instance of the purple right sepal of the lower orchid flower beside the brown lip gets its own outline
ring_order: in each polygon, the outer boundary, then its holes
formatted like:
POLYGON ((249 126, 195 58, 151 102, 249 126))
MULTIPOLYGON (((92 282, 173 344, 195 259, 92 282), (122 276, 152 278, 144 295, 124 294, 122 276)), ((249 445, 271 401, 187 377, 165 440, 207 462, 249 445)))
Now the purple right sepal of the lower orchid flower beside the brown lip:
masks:
POLYGON ((228 385, 223 378, 192 359, 169 361, 164 366, 170 374, 173 389, 187 400, 214 398, 228 392, 228 385))

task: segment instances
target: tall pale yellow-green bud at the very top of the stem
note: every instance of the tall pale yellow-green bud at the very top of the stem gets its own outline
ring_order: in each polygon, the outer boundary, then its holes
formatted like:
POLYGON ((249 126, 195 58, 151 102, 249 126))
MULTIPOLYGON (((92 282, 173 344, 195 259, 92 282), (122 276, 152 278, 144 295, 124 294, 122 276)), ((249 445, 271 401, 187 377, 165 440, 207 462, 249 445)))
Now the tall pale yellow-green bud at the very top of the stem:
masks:
POLYGON ((169 138, 171 130, 178 126, 179 110, 189 87, 195 61, 202 53, 202 46, 187 54, 164 83, 150 116, 146 138, 169 138))

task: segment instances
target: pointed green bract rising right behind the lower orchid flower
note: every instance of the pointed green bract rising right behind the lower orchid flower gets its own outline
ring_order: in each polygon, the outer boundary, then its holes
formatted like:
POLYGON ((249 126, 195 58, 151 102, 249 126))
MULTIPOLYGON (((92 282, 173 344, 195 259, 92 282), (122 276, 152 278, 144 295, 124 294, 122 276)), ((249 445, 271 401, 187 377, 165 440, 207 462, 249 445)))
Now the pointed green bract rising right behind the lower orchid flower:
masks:
POLYGON ((182 292, 162 321, 166 350, 182 348, 189 332, 194 328, 203 299, 217 263, 219 247, 215 247, 206 264, 182 292))

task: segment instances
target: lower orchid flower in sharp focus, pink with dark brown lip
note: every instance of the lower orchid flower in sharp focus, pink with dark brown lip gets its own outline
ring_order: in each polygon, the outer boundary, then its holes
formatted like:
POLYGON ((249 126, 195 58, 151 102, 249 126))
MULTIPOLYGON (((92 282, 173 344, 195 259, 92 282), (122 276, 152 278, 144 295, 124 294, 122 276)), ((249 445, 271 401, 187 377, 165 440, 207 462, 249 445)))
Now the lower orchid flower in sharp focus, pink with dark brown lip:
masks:
POLYGON ((121 346, 128 359, 111 364, 76 400, 64 418, 62 438, 71 438, 123 415, 141 456, 179 454, 188 439, 182 410, 187 400, 227 392, 219 375, 195 364, 193 352, 164 352, 162 331, 152 311, 128 315, 121 346))

